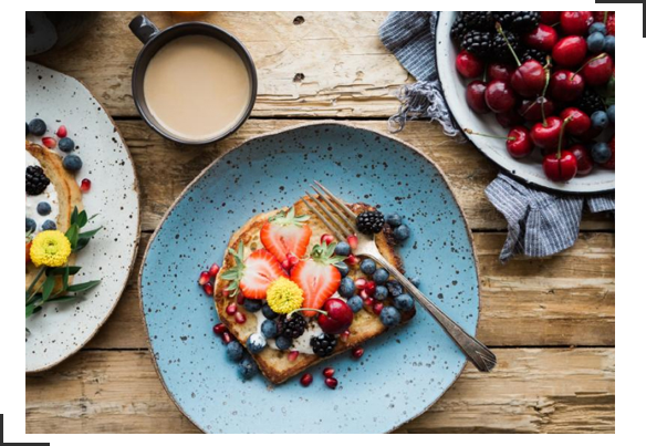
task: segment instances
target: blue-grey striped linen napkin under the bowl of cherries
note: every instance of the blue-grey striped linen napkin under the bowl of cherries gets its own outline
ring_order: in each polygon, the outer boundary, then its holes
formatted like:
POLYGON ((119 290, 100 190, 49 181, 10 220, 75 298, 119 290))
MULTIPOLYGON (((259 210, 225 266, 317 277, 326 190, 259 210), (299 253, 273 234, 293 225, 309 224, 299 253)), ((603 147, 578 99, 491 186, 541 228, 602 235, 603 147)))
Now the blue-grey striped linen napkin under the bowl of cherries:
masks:
MULTIPOLYGON (((465 141, 451 118, 435 69, 437 15, 437 11, 392 12, 379 28, 384 45, 417 80, 400 90, 402 106, 388 126, 399 132, 407 120, 430 118, 448 136, 465 141)), ((487 187, 486 195, 509 225, 500 252, 503 262, 517 253, 545 257, 574 245, 584 201, 592 212, 615 210, 614 193, 585 197, 544 193, 503 173, 487 187)))

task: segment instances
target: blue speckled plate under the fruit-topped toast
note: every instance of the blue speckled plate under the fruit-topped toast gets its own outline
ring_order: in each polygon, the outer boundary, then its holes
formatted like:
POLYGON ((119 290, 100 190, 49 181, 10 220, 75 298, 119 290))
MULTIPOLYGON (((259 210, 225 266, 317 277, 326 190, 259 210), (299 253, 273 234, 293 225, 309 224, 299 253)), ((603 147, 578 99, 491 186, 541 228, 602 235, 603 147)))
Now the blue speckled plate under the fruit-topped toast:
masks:
POLYGON ((405 216, 413 237, 400 253, 408 276, 475 334, 478 272, 470 232, 442 174, 387 136, 324 123, 249 141, 207 168, 168 211, 148 246, 142 309, 170 397, 208 433, 381 433, 425 412, 457 380, 466 359, 418 307, 407 325, 312 367, 314 383, 242 382, 211 329, 212 300, 199 271, 220 262, 231 234, 258 212, 294 203, 317 179, 348 201, 405 216), (323 367, 340 385, 325 387, 323 367))

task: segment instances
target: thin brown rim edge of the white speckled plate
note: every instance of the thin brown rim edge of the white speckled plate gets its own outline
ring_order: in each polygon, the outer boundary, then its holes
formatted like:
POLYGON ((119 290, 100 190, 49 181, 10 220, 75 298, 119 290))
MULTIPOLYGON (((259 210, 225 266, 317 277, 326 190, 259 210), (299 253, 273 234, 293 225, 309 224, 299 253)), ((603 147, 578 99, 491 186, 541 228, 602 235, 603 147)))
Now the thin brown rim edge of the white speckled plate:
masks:
MULTIPOLYGON (((135 237, 134 240, 134 245, 133 245, 133 255, 131 257, 129 260, 129 265, 127 267, 127 276, 124 280, 124 284, 121 288, 121 290, 117 293, 117 298, 115 299, 113 305, 108 309, 108 311, 105 313, 105 318, 103 318, 101 320, 101 322, 96 325, 95 330, 87 336, 87 339, 84 342, 79 343, 79 345, 73 349, 69 354, 66 354, 65 356, 61 357, 60 360, 58 360, 56 362, 53 362, 44 367, 40 367, 40 369, 34 369, 34 370, 27 370, 24 371, 24 375, 25 376, 30 376, 30 375, 34 375, 38 373, 42 373, 42 372, 46 372, 51 369, 54 369, 55 366, 60 365, 61 363, 63 363, 64 361, 69 360, 70 357, 74 356, 76 353, 79 353, 81 350, 83 350, 83 348, 85 345, 87 345, 90 343, 90 341, 92 341, 94 339, 94 336, 96 335, 96 333, 98 333, 98 331, 103 328, 103 325, 105 325, 105 323, 107 322, 107 320, 110 319, 110 317, 112 315, 112 313, 114 312, 114 310, 116 309, 116 307, 118 305, 118 302, 121 301, 121 298, 124 294, 124 291, 126 289, 126 287, 128 286, 128 279, 131 278, 131 274, 133 273, 133 271, 135 270, 135 262, 137 260, 137 253, 139 252, 139 241, 142 239, 142 200, 140 200, 140 195, 139 195, 139 179, 137 177, 137 169, 135 168, 135 162, 133 159, 133 155, 131 154, 131 148, 128 147, 128 145, 126 144, 126 138, 124 137, 124 135, 121 133, 121 129, 118 128, 118 126, 116 125, 116 123, 114 122, 114 120, 112 118, 112 115, 110 113, 107 113, 107 110, 105 108, 105 106, 103 105, 103 102, 101 102, 95 95, 94 93, 92 93, 92 91, 87 87, 87 85, 85 85, 85 83, 74 76, 71 76, 69 74, 62 73, 58 70, 51 69, 42 63, 38 63, 38 62, 33 62, 30 60, 25 60, 25 64, 32 64, 35 66, 40 66, 40 68, 44 68, 46 70, 50 70, 59 75, 65 76, 71 79, 72 81, 77 82, 83 89, 85 89, 87 91, 87 93, 90 94, 90 96, 92 96, 92 98, 94 98, 94 101, 96 101, 96 104, 101 107, 101 111, 103 113, 105 113, 105 115, 107 116, 108 121, 112 123, 112 125, 114 126, 116 134, 118 135, 118 137, 121 138, 123 146, 125 148, 125 153, 131 162, 131 165, 133 166, 133 190, 135 191, 135 196, 137 197, 137 212, 136 212, 136 230, 137 230, 137 235, 135 237)), ((27 65, 25 65, 27 66, 27 65)), ((27 89, 27 84, 25 84, 25 89, 27 89)))

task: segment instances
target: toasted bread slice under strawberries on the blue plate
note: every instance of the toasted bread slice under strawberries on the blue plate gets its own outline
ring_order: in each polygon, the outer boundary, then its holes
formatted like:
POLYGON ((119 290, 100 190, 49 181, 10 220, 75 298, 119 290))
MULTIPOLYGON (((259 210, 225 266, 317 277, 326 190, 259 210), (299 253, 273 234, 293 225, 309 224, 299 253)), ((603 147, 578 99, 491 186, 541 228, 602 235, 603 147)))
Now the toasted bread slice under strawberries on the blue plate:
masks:
MULTIPOLYGON (((308 207, 299 201, 294 205, 296 215, 310 215, 310 220, 308 225, 312 229, 312 238, 310 239, 310 246, 308 247, 308 252, 312 247, 319 243, 320 238, 323 234, 329 234, 330 230, 325 227, 323 221, 321 221, 315 215, 308 209, 308 207)), ((374 210, 368 205, 355 204, 348 205, 348 207, 355 212, 360 214, 364 210, 374 210)), ((286 209, 283 209, 286 210, 286 209)), ((279 210, 274 210, 268 214, 260 214, 247 221, 229 241, 229 248, 236 250, 239 242, 242 241, 244 245, 244 256, 247 257, 250 252, 262 249, 262 243, 260 241, 260 229, 262 225, 267 221, 269 217, 277 214, 279 210)), ((393 266, 395 266, 399 271, 404 272, 402 259, 394 250, 394 239, 389 228, 386 226, 385 230, 379 232, 375 241, 377 248, 384 258, 393 266)), ((228 252, 228 250, 227 250, 228 252)), ((222 268, 216 278, 213 294, 216 301, 216 309, 220 317, 220 321, 227 325, 231 334, 233 334, 242 345, 246 345, 247 339, 258 332, 258 319, 257 313, 248 312, 242 305, 238 305, 238 310, 247 317, 247 322, 243 324, 236 323, 233 317, 228 315, 225 311, 227 305, 236 301, 236 298, 226 297, 222 291, 229 284, 228 281, 221 279, 222 272, 228 270, 235 265, 233 256, 230 253, 225 255, 222 261, 222 268)), ((364 274, 358 269, 358 266, 351 268, 348 274, 352 278, 364 277, 364 274)), ((385 304, 390 304, 386 301, 385 304)), ((402 322, 407 322, 415 315, 415 309, 409 312, 402 313, 402 322)), ((350 336, 346 341, 338 339, 338 343, 335 348, 333 354, 338 354, 345 352, 356 345, 360 345, 367 340, 375 338, 387 329, 379 320, 379 317, 372 312, 372 310, 366 310, 365 308, 358 311, 354 315, 354 321, 350 328, 350 336)), ((304 334, 306 335, 306 333, 304 334)), ((258 363, 260 371, 274 384, 280 384, 290 377, 299 374, 309 366, 316 364, 326 357, 319 357, 315 354, 300 353, 294 361, 288 359, 289 352, 283 352, 280 350, 274 350, 271 348, 265 348, 259 354, 252 354, 252 357, 258 363)), ((330 357, 330 356, 327 356, 330 357)))

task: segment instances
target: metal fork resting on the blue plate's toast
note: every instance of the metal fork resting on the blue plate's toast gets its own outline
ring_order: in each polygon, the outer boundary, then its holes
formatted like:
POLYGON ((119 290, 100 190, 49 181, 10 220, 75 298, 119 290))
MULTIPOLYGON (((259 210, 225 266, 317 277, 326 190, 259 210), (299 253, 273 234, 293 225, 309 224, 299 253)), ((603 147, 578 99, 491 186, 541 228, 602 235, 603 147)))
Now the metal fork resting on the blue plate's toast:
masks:
POLYGON ((314 181, 311 185, 315 196, 305 191, 306 197, 302 197, 308 208, 323 221, 337 240, 345 240, 355 235, 358 239, 357 247, 353 250, 356 256, 364 256, 373 259, 385 268, 390 276, 395 277, 404 288, 428 311, 442 326, 447 334, 455 341, 467 359, 481 372, 489 372, 496 366, 496 355, 485 344, 468 334, 460 325, 446 315, 435 303, 433 303, 421 291, 419 291, 404 274, 384 259, 377 249, 375 239, 355 230, 356 215, 336 198, 321 183, 314 181), (309 199, 308 199, 309 198, 309 199))

